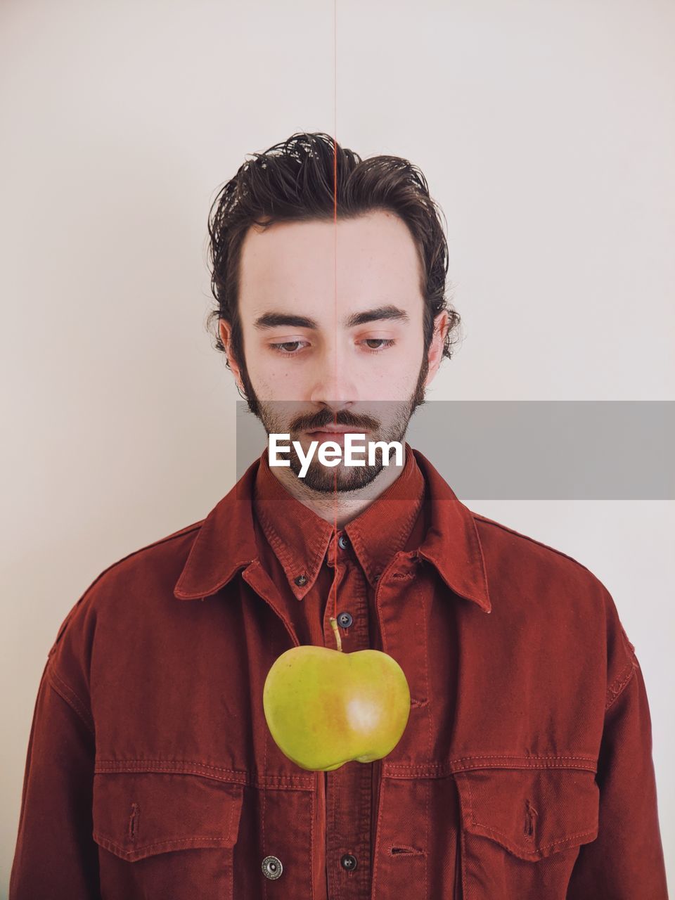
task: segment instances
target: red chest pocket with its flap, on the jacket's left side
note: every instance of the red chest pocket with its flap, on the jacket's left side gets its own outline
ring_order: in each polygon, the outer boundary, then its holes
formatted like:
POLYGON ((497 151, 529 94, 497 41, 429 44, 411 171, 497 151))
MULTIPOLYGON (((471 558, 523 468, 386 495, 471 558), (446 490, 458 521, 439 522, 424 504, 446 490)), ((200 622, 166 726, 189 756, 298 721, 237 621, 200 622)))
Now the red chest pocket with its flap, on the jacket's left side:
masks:
POLYGON ((104 900, 232 900, 243 786, 165 772, 94 775, 104 900))

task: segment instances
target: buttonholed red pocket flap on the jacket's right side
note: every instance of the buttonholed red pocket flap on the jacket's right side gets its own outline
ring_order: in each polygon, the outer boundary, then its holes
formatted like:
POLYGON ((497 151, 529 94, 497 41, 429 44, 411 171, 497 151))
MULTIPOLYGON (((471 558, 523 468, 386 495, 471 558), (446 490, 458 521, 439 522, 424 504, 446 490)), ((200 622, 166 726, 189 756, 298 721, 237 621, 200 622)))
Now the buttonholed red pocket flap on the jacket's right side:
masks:
POLYGON ((599 788, 591 771, 467 770, 455 780, 466 831, 521 860, 540 860, 598 837, 599 788))

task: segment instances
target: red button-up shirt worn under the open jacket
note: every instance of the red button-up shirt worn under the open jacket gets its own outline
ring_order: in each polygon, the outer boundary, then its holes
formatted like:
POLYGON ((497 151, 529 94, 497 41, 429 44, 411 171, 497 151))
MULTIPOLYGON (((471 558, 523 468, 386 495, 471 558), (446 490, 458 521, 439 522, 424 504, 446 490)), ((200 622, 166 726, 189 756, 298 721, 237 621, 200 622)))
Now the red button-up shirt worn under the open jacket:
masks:
MULTIPOLYGON (((409 452, 396 481, 336 531, 333 522, 289 495, 262 455, 254 485, 258 548, 279 591, 284 616, 301 644, 335 649, 330 625, 334 616, 344 653, 382 650, 374 614, 377 582, 395 554, 421 545, 428 528, 424 495, 424 476, 409 452)), ((325 857, 326 890, 331 898, 371 896, 381 773, 379 760, 370 765, 350 761, 326 773, 317 809, 317 828, 325 833, 325 845, 317 861, 322 867, 325 857)), ((452 811, 446 810, 446 815, 453 815, 452 811)), ((456 820, 456 810, 454 815, 456 820)), ((446 866, 454 864, 451 842, 446 866)), ((379 872, 374 874, 377 883, 379 872)))

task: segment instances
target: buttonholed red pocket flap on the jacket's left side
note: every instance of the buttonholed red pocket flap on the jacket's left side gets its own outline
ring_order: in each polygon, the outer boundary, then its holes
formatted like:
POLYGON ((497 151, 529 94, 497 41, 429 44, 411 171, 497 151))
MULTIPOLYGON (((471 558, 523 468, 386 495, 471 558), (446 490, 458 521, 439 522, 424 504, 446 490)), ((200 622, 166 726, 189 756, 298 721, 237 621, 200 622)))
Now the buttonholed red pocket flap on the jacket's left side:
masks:
POLYGON ((122 860, 237 842, 243 785, 199 775, 94 775, 94 841, 122 860))

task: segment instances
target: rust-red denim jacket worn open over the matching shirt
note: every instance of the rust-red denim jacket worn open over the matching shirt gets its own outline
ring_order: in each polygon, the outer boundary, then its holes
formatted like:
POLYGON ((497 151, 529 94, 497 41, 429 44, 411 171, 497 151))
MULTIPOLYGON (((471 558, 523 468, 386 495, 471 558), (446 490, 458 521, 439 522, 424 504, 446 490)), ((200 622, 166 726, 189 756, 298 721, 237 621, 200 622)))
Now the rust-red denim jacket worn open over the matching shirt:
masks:
POLYGON ((410 685, 392 752, 311 772, 269 734, 267 671, 302 643, 298 623, 333 610, 289 615, 254 514, 261 458, 66 617, 33 716, 12 900, 667 897, 644 680, 608 590, 471 512, 406 450, 425 482, 421 543, 382 572, 358 538, 351 559, 372 582, 369 634, 410 685), (327 816, 347 766, 370 769, 351 798, 364 815, 373 802, 370 845, 340 847, 344 818, 327 816), (369 887, 352 878, 365 869, 369 887))

